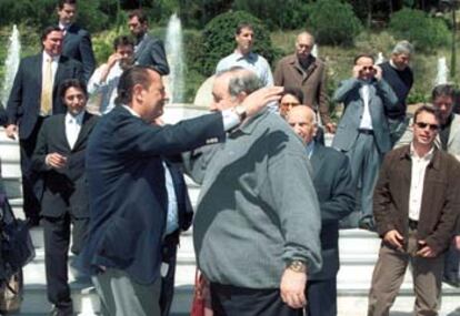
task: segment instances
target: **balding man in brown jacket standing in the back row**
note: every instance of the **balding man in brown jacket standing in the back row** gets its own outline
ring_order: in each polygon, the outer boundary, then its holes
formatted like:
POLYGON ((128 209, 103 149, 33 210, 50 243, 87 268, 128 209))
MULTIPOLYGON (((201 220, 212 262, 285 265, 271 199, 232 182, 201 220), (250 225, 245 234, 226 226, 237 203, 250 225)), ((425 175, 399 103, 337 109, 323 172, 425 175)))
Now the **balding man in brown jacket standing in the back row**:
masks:
POLYGON ((329 115, 329 96, 326 91, 324 63, 311 54, 314 38, 309 32, 297 35, 296 53, 282 58, 274 70, 274 84, 298 88, 303 92, 302 104, 319 112, 327 132, 333 133, 336 124, 329 115))

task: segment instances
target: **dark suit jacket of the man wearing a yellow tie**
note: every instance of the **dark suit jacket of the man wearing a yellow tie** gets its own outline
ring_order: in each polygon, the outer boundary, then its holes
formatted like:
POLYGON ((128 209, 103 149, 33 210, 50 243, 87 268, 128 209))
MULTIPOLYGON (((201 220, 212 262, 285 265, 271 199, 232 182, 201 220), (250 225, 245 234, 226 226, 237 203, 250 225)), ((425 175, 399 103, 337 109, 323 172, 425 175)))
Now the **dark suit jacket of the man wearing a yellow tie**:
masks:
MULTIPOLYGON (((19 139, 27 140, 40 115, 42 53, 21 60, 14 78, 7 112, 8 124, 19 125, 19 139)), ((71 78, 82 79, 81 63, 61 55, 52 91, 53 114, 66 113, 67 108, 58 95, 59 84, 71 78)))

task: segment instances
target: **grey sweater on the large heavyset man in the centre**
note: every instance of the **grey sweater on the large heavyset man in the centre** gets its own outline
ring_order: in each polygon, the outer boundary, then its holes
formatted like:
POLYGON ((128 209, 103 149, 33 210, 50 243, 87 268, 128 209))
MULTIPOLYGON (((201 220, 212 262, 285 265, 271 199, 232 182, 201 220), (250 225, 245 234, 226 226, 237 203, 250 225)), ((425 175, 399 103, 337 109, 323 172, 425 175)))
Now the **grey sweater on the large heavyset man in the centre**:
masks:
POLYGON ((298 136, 264 111, 222 144, 186 155, 202 184, 193 242, 211 282, 278 288, 287 261, 321 266, 320 212, 310 164, 298 136))

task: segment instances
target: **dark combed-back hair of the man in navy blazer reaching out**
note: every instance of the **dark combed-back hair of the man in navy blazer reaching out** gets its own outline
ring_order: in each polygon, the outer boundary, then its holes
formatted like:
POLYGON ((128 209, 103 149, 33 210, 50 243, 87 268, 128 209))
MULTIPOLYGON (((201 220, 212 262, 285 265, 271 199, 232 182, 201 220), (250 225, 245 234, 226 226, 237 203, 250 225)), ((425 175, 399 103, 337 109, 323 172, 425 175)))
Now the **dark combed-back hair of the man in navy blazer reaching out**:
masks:
POLYGON ((121 74, 120 81, 118 82, 116 104, 129 104, 132 100, 132 89, 136 84, 141 84, 143 89, 149 89, 152 84, 149 70, 158 73, 152 67, 133 65, 121 74))

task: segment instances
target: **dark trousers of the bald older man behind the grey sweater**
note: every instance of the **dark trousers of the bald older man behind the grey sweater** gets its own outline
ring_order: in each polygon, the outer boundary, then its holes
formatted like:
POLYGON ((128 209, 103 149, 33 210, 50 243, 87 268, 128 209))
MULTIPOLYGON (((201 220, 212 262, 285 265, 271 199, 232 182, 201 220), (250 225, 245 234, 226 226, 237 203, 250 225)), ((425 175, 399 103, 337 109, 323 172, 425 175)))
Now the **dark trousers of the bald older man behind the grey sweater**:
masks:
POLYGON ((337 316, 337 278, 308 281, 308 316, 337 316))

